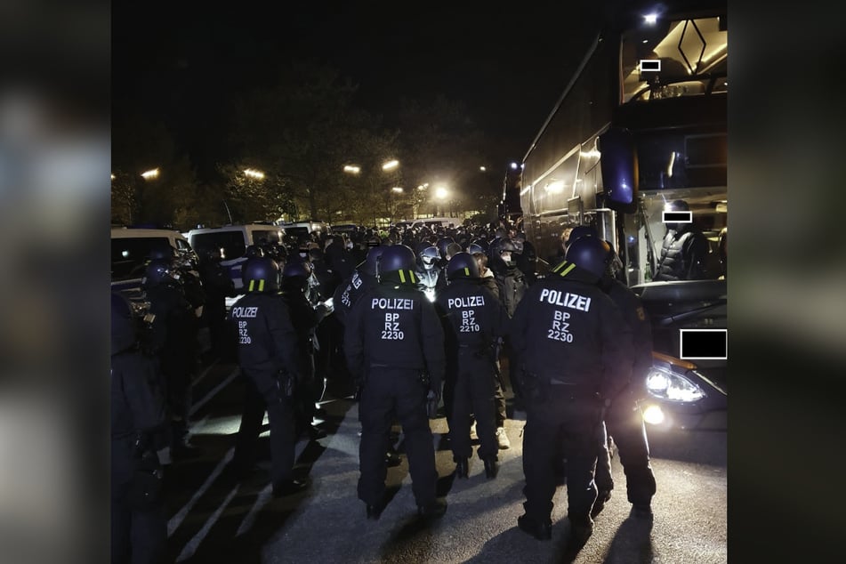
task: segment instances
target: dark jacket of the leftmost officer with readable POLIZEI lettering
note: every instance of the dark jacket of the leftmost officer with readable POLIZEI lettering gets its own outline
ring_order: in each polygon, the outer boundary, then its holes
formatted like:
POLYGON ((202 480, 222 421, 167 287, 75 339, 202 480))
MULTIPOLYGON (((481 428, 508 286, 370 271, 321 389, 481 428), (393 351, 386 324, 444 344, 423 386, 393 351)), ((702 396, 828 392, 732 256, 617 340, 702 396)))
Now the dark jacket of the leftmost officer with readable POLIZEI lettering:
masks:
POLYGON ((230 318, 238 327, 238 365, 262 395, 278 390, 278 374, 297 374, 297 334, 280 294, 251 292, 235 302, 230 318))

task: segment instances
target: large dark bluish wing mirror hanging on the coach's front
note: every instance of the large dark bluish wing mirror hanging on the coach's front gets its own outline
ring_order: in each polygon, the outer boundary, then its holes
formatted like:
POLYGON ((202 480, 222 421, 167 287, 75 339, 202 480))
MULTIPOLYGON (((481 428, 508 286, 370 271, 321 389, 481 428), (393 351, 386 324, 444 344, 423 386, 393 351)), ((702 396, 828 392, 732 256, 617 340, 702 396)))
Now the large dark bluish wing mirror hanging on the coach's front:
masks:
POLYGON ((632 132, 612 127, 600 134, 599 149, 605 205, 616 212, 637 211, 638 159, 632 132))

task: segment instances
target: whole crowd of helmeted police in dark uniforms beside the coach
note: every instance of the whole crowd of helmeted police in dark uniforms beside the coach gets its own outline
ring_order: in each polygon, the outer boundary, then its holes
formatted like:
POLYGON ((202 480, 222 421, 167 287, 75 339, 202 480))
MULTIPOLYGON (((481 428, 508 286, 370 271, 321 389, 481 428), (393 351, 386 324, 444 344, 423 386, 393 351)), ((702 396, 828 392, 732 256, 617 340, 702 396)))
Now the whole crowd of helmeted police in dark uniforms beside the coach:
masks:
POLYGON ((237 362, 244 376, 230 471, 246 479, 256 470, 266 413, 274 496, 309 486, 294 477, 294 448, 302 437, 326 436, 316 416, 334 378, 359 401, 358 496, 367 519, 379 519, 387 503, 397 423, 417 511, 438 518, 447 504, 436 493, 429 420, 446 415, 456 478, 469 476, 475 429, 476 457, 495 479, 498 452, 510 446, 510 385, 527 414, 521 530, 552 537, 552 498, 566 483, 570 537, 584 544, 614 487, 609 437, 633 514, 651 519, 656 484, 635 401, 651 364, 649 319, 592 228, 568 230, 561 243, 550 273, 537 277, 534 248, 509 222, 313 232, 287 245, 248 247, 239 291, 219 252, 197 264, 180 263, 169 248, 151 254, 146 317, 139 321, 132 304, 112 297, 113 560, 123 561, 142 538, 153 540, 142 543, 148 558, 137 561, 156 561, 164 547, 163 504, 147 491, 157 487, 149 475, 160 478, 156 459, 191 454, 190 382, 204 360, 197 353, 204 325, 212 345, 205 360, 237 362), (226 298, 239 294, 227 313, 226 298))

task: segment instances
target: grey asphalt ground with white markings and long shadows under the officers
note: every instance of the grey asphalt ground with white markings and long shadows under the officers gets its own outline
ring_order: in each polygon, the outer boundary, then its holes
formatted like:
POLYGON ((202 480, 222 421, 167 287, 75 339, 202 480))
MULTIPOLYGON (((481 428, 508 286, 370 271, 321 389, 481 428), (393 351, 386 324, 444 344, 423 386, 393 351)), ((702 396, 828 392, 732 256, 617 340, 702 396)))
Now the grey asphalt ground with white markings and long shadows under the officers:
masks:
MULTIPOLYGON (((525 413, 506 423, 512 447, 500 451, 496 479, 471 460, 470 478, 453 479, 455 464, 444 418, 431 421, 446 515, 430 527, 416 519, 405 456, 389 469, 391 502, 367 520, 356 496, 359 477, 358 405, 335 384, 323 404, 325 439, 302 440, 296 473, 312 484, 273 498, 267 475, 238 483, 225 465, 238 430, 243 388, 237 367, 216 364, 194 388, 195 457, 165 471, 170 556, 180 562, 653 562, 727 560, 727 434, 650 434, 657 495, 652 523, 630 516, 625 478, 612 460, 616 489, 581 551, 568 549, 566 487, 553 500, 552 541, 517 528, 523 512, 521 432, 525 413)), ((398 439, 402 452, 401 435, 398 439)), ((270 465, 265 449, 262 465, 270 465)))

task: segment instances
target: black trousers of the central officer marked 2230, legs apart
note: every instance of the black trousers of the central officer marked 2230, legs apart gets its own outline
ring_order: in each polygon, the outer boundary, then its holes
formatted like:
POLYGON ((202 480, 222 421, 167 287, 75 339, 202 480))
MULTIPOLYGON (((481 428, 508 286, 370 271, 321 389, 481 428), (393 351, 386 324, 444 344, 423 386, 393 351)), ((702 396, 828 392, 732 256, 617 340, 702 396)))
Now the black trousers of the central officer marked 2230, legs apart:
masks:
POLYGON ((388 466, 385 453, 390 448, 394 417, 405 435, 408 471, 417 505, 435 502, 438 471, 429 416, 426 413, 428 385, 420 380, 419 370, 371 368, 361 390, 359 420, 359 499, 367 504, 382 504, 388 466))

